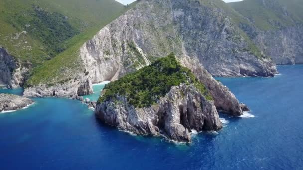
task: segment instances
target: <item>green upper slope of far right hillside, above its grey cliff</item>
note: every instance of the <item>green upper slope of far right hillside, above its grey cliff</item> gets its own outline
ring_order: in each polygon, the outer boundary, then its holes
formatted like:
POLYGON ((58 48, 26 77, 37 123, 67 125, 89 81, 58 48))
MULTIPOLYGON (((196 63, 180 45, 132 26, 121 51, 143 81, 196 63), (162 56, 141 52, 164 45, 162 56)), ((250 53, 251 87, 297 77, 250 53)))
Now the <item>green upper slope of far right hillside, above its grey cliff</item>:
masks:
POLYGON ((262 30, 303 23, 302 0, 244 0, 228 4, 262 30))

